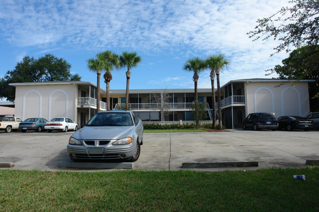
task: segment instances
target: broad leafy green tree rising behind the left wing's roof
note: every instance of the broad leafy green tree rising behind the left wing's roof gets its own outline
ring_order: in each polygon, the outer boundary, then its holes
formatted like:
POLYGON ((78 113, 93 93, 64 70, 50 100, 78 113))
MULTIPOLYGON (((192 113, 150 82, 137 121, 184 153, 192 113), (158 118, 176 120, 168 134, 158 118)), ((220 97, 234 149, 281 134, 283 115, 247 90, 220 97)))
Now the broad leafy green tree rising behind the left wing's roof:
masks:
POLYGON ((7 71, 0 79, 0 98, 15 100, 15 87, 9 83, 45 82, 45 81, 80 81, 79 74, 71 74, 71 65, 62 58, 46 54, 39 59, 25 56, 15 69, 7 71))

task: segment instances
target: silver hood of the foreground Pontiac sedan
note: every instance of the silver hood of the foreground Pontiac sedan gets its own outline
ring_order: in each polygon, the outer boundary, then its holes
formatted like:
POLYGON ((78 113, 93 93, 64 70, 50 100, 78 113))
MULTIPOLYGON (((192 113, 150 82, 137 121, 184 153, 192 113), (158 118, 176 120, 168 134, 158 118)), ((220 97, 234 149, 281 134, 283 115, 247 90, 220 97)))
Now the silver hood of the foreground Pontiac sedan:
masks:
POLYGON ((85 126, 71 137, 78 140, 113 140, 132 137, 133 126, 85 126))

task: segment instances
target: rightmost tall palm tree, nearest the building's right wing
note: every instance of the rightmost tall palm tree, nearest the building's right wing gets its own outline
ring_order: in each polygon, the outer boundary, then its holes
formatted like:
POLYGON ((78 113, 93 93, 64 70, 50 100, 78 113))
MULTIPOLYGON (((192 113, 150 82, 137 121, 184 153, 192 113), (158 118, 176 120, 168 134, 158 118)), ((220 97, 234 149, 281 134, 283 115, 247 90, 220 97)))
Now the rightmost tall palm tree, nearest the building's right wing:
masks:
POLYGON ((222 69, 228 67, 229 60, 222 54, 218 54, 217 56, 214 56, 214 57, 216 60, 215 73, 216 73, 216 80, 217 80, 218 130, 222 130, 219 74, 222 69))

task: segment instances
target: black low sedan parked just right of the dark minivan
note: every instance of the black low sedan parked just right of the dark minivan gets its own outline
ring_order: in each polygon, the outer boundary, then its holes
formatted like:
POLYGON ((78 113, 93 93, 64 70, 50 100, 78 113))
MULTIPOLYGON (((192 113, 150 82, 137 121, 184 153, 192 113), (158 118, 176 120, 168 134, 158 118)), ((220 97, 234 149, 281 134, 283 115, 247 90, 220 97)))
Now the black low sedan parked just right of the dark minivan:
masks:
POLYGON ((293 129, 302 129, 309 131, 312 126, 312 120, 307 120, 299 116, 282 116, 278 118, 278 129, 286 129, 292 131, 293 129))

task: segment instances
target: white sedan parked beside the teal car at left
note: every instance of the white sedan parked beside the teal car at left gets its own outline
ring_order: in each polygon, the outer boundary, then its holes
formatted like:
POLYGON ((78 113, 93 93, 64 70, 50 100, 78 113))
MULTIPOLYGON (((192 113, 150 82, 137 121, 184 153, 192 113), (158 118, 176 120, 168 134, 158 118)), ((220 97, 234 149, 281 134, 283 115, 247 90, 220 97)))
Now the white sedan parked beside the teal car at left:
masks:
POLYGON ((46 123, 44 129, 48 130, 49 133, 53 130, 68 132, 68 130, 77 131, 79 126, 70 118, 53 118, 51 121, 46 123))

